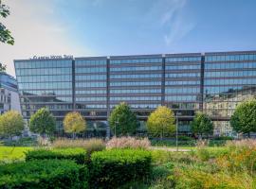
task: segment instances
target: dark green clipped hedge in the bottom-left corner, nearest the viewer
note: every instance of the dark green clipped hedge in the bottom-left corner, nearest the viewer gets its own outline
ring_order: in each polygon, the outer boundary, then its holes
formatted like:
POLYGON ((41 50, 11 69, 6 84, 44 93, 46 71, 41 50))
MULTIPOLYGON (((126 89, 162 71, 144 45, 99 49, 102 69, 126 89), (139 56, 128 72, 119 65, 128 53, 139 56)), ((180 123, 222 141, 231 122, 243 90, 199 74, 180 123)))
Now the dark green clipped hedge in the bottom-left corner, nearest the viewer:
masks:
POLYGON ((0 166, 0 188, 88 188, 88 169, 70 160, 40 160, 0 166))

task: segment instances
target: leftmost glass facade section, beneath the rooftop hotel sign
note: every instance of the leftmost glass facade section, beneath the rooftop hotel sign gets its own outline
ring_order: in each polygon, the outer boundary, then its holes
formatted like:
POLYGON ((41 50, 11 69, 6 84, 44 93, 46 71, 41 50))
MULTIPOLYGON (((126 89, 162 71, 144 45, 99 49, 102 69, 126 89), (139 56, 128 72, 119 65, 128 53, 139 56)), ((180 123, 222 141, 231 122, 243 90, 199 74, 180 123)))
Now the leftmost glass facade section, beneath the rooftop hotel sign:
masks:
POLYGON ((46 107, 61 130, 64 115, 73 110, 73 60, 15 60, 14 63, 24 119, 28 123, 31 114, 46 107))

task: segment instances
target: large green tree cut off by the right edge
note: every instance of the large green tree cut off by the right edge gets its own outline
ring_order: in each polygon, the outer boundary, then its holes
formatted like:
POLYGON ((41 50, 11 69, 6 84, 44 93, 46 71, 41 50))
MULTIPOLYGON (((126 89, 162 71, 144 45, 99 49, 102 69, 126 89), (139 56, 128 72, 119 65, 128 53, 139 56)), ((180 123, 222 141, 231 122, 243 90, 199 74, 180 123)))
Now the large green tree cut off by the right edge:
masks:
POLYGON ((236 132, 256 132, 256 100, 248 100, 238 105, 231 115, 230 126, 236 132))

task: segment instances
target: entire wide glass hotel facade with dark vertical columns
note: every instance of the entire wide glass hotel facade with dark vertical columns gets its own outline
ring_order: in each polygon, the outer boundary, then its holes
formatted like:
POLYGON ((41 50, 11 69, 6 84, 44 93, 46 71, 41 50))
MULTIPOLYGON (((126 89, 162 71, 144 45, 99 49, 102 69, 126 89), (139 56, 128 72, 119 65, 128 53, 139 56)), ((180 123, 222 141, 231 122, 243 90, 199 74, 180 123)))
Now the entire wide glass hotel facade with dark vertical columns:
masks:
POLYGON ((119 102, 143 123, 157 106, 179 112, 190 132, 196 112, 208 113, 214 133, 230 134, 237 104, 256 95, 256 51, 14 60, 25 120, 42 107, 56 117, 81 112, 90 128, 104 129, 119 102))

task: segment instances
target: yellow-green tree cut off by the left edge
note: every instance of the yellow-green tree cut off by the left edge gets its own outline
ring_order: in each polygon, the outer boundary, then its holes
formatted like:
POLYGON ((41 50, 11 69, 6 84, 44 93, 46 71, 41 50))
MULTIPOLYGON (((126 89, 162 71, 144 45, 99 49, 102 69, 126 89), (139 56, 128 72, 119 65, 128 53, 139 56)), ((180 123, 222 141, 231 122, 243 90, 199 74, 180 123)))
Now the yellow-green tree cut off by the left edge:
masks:
POLYGON ((19 112, 9 111, 0 115, 0 134, 4 137, 20 136, 24 121, 19 112))

